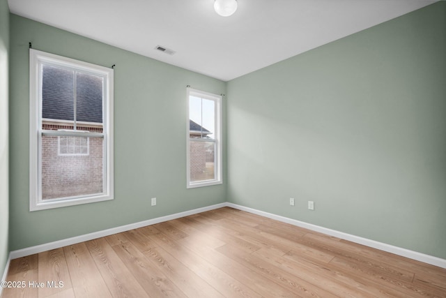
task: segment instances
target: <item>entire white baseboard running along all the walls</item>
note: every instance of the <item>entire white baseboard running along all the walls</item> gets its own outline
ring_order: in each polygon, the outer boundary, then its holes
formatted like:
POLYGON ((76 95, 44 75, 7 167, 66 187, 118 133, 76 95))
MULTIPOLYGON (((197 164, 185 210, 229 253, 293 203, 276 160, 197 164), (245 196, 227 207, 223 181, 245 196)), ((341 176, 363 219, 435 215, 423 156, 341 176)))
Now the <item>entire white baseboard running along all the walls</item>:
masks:
POLYGON ((264 216, 264 217, 267 217, 267 218, 275 219, 276 221, 282 221, 284 223, 289 223, 291 225, 297 225, 298 227, 301 227, 301 228, 305 228, 305 229, 312 230, 312 231, 315 231, 315 232, 321 232, 323 234, 328 234, 330 236, 338 237, 338 238, 341 238, 341 239, 345 239, 345 240, 348 240, 348 241, 355 242, 357 244, 362 244, 362 245, 365 245, 365 246, 376 248, 376 249, 379 249, 381 251, 387 251, 388 253, 394 253, 395 255, 401 255, 401 256, 406 257, 406 258, 410 258, 410 259, 413 259, 413 260, 417 260, 417 261, 420 261, 420 262, 424 262, 424 263, 427 263, 427 264, 431 264, 431 265, 442 267, 442 268, 446 269, 446 260, 434 257, 432 255, 426 255, 424 253, 418 253, 416 251, 410 251, 410 250, 408 250, 406 248, 401 248, 401 247, 398 247, 398 246, 392 246, 390 244, 385 244, 385 243, 374 241, 374 240, 371 240, 371 239, 357 237, 355 235, 347 234, 347 233, 344 233, 344 232, 339 232, 337 230, 331 230, 331 229, 328 229, 328 228, 323 228, 323 227, 318 226, 318 225, 313 225, 311 223, 305 223, 303 221, 298 221, 298 220, 295 220, 295 219, 292 219, 292 218, 287 218, 287 217, 279 216, 279 215, 276 215, 276 214, 270 214, 270 213, 265 212, 265 211, 260 211, 260 210, 252 209, 252 208, 249 208, 249 207, 243 207, 241 205, 233 204, 233 203, 230 203, 230 202, 224 202, 224 203, 220 203, 220 204, 211 205, 211 206, 208 206, 208 207, 202 207, 202 208, 193 209, 193 210, 190 210, 190 211, 180 212, 180 213, 177 213, 177 214, 161 216, 161 217, 158 217, 158 218, 149 219, 147 221, 140 221, 138 223, 131 223, 129 225, 121 225, 120 227, 111 228, 111 229, 108 229, 108 230, 102 230, 102 231, 93 232, 93 233, 90 233, 90 234, 80 235, 80 236, 77 236, 77 237, 71 237, 71 238, 68 238, 68 239, 62 239, 62 240, 50 242, 50 243, 47 243, 47 244, 41 244, 41 245, 38 245, 38 246, 31 246, 29 248, 22 248, 22 249, 19 249, 17 251, 11 251, 10 255, 9 255, 9 259, 8 259, 8 264, 7 264, 6 269, 5 269, 5 273, 3 274, 3 278, 6 278, 5 274, 7 274, 7 272, 8 272, 9 262, 10 262, 10 260, 13 260, 13 259, 21 258, 21 257, 24 257, 26 255, 32 255, 34 253, 41 253, 43 251, 49 251, 49 250, 52 250, 54 248, 61 248, 63 246, 77 244, 77 243, 83 242, 83 241, 89 241, 89 240, 92 240, 92 239, 109 236, 111 234, 116 234, 116 233, 125 232, 125 231, 128 231, 128 230, 133 230, 133 229, 136 229, 136 228, 145 227, 146 225, 153 225, 155 223, 162 223, 164 221, 171 221, 172 219, 181 218, 181 217, 184 217, 184 216, 190 216, 192 214, 198 214, 198 213, 201 213, 201 212, 204 212, 204 211, 218 209, 218 208, 221 208, 221 207, 232 207, 234 209, 247 211, 249 213, 257 214, 259 216, 264 216))

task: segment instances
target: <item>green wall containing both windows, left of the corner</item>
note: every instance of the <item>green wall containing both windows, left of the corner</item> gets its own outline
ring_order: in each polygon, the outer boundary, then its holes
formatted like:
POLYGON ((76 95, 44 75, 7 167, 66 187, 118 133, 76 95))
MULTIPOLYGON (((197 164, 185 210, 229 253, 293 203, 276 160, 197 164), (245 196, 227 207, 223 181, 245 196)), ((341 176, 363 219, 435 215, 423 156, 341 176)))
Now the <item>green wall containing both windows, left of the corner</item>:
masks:
POLYGON ((10 65, 11 251, 226 201, 226 184, 186 189, 185 155, 186 86, 222 94, 226 83, 17 15, 10 15, 10 65), (37 50, 116 64, 115 200, 29 211, 30 41, 37 50))

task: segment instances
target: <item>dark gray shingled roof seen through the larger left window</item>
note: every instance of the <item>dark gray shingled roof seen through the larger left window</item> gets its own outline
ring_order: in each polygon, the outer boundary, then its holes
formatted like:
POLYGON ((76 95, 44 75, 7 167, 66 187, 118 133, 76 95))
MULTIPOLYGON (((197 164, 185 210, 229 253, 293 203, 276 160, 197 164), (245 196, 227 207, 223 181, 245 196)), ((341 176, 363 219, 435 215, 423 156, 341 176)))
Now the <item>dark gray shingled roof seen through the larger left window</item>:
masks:
MULTIPOLYGON (((42 117, 74 119, 75 72, 43 66, 42 117)), ((102 77, 76 73, 76 120, 102 123, 102 77)))

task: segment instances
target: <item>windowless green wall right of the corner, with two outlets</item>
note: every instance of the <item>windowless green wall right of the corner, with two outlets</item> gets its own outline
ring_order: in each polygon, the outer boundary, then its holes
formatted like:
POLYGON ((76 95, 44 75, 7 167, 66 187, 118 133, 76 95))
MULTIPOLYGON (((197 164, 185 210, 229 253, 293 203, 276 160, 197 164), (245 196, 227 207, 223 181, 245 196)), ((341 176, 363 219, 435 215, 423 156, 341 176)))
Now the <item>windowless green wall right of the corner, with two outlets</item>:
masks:
POLYGON ((230 202, 446 258, 446 2, 227 92, 230 202))

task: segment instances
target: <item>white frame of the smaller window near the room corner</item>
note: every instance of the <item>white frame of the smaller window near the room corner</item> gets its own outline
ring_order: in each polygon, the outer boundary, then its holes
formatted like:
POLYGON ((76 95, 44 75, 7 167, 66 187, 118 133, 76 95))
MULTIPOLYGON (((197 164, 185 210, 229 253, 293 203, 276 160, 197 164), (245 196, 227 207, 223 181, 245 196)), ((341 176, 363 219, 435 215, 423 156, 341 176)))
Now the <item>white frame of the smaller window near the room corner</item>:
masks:
POLYGON ((187 151, 187 188, 197 188, 202 186, 211 186, 223 183, 222 178, 222 96, 217 94, 211 94, 205 91, 200 91, 197 89, 192 89, 187 87, 187 130, 186 130, 186 151, 187 151), (213 100, 215 103, 215 131, 214 139, 199 139, 190 137, 190 116, 189 116, 189 100, 190 96, 196 96, 199 98, 213 100), (215 152, 214 152, 214 171, 215 179, 203 180, 203 181, 190 181, 190 140, 194 142, 203 140, 203 142, 215 142, 215 152))

